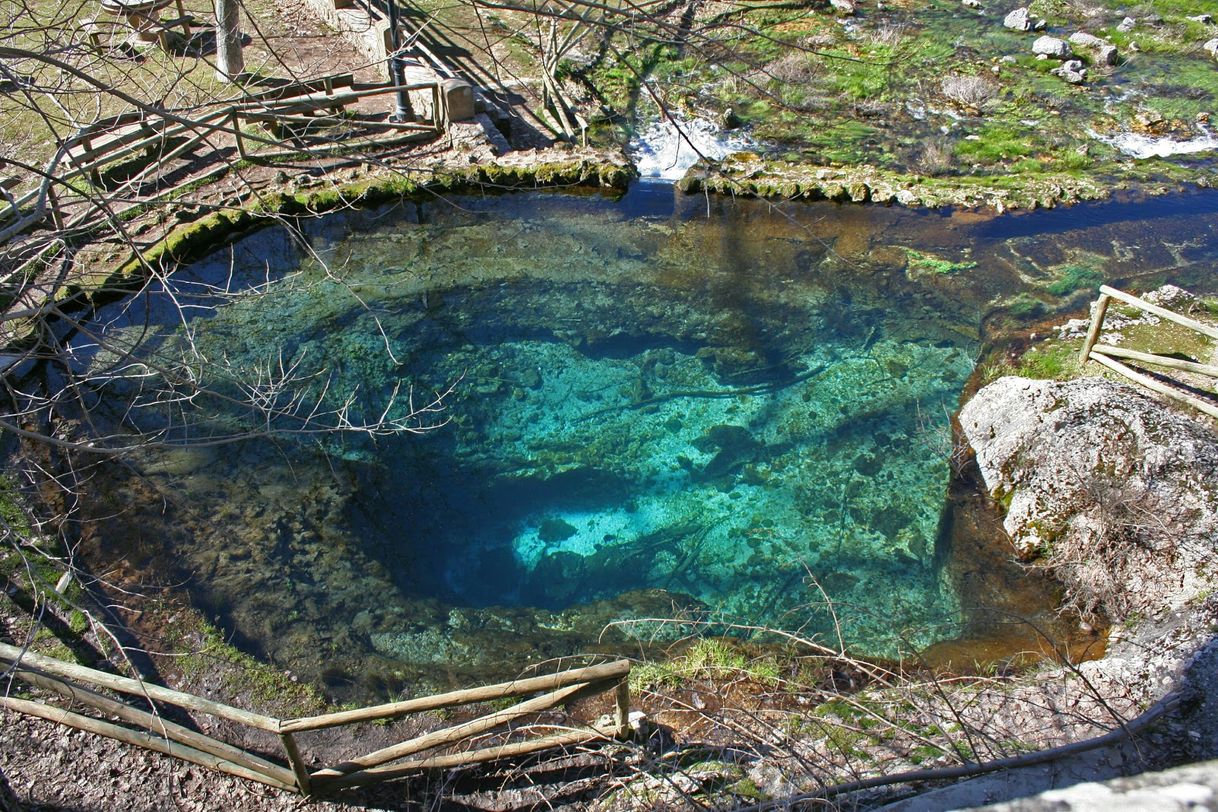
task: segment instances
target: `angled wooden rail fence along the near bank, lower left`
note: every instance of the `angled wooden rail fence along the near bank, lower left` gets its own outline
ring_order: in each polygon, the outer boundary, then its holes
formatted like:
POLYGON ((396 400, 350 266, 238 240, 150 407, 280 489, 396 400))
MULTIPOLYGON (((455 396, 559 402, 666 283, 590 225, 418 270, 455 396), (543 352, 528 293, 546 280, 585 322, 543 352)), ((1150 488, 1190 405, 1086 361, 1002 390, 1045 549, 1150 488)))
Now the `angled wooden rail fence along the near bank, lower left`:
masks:
MULTIPOLYGON (((301 795, 317 795, 340 788, 373 784, 426 769, 463 767, 552 747, 610 740, 625 737, 630 724, 630 690, 627 688, 630 662, 626 660, 386 705, 292 719, 255 713, 2 643, 0 643, 0 667, 5 667, 7 673, 30 685, 58 694, 68 701, 69 706, 84 705, 125 724, 85 716, 43 701, 18 699, 9 695, 11 690, 0 689, 0 706, 2 707, 118 739, 127 744, 301 795), (610 690, 614 691, 614 713, 608 724, 563 728, 530 724, 524 726, 520 730, 527 733, 541 730, 544 734, 480 749, 470 746, 476 737, 501 730, 512 722, 535 716, 541 711, 579 698, 610 690), (123 695, 140 698, 147 710, 123 700, 123 695), (315 767, 302 754, 296 741, 297 734, 309 730, 393 719, 409 713, 524 696, 531 696, 531 699, 328 767, 315 767), (250 749, 239 747, 185 724, 169 721, 160 711, 161 706, 175 706, 236 723, 247 730, 261 732, 264 740, 270 744, 274 744, 274 739, 267 738, 267 734, 276 737, 283 758, 269 756, 267 752, 252 752, 250 749), (424 755, 429 751, 431 755, 424 755)), ((242 735, 242 740, 251 737, 242 735)), ((252 738, 257 739, 257 734, 252 738)))

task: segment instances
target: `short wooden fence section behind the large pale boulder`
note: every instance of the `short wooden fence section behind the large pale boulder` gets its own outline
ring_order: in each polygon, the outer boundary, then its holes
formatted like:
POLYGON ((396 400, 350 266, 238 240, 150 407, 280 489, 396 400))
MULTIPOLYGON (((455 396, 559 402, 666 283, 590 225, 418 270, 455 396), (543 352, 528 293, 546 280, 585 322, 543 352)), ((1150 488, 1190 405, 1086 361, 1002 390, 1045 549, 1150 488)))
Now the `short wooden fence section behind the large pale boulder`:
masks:
POLYGON ((1167 319, 1168 321, 1174 321, 1189 330, 1200 332, 1203 336, 1218 340, 1218 329, 1212 327, 1207 324, 1201 324, 1196 319, 1190 319, 1186 315, 1180 315, 1179 313, 1173 313, 1167 308, 1158 307, 1157 304, 1151 304, 1144 299, 1138 298, 1125 293, 1124 291, 1118 291, 1114 287, 1108 287, 1104 285, 1100 287, 1100 298, 1095 303, 1095 313, 1091 314, 1091 325, 1086 331, 1086 338, 1083 341, 1083 351, 1079 354, 1079 363, 1085 365, 1086 362, 1094 360, 1097 364, 1107 366, 1112 371, 1124 375, 1129 380, 1139 383, 1147 390, 1158 392, 1160 394, 1166 394, 1169 398, 1186 403, 1197 411, 1209 415, 1211 418, 1218 418, 1218 404, 1211 401, 1205 401, 1195 394, 1190 394, 1181 388, 1164 383, 1157 379, 1149 375, 1139 373, 1133 369, 1124 360, 1138 362, 1139 364, 1149 364, 1151 366, 1162 366, 1164 369, 1174 369, 1181 373, 1191 373, 1194 375, 1203 375, 1206 377, 1218 379, 1218 366, 1211 364, 1201 364, 1191 360, 1183 360, 1180 358, 1174 358, 1172 355, 1158 355, 1155 353, 1139 352, 1136 349, 1125 349, 1123 347, 1113 347, 1112 345, 1099 343, 1100 331, 1104 329, 1104 317, 1108 312, 1108 303, 1112 299, 1123 302, 1124 304, 1133 306, 1145 313, 1152 313, 1161 319, 1167 319), (1117 360, 1122 359, 1122 360, 1117 360))

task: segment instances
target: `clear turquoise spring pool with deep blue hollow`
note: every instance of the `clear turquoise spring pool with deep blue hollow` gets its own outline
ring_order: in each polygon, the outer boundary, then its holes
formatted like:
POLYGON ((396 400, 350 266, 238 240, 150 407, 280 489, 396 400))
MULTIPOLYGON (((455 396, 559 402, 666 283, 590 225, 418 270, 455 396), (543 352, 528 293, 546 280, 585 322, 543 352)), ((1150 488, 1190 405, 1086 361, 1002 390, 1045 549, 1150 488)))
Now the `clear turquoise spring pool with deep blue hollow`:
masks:
POLYGON ((708 631, 893 656, 987 634, 999 581, 1051 617, 1044 584, 962 560, 950 419, 1019 297, 1089 298, 1046 292, 1063 269, 1203 286, 1218 196, 1173 200, 989 218, 639 184, 263 230, 78 341, 95 370, 124 342, 155 364, 106 382, 116 425, 196 441, 99 470, 90 544, 363 698, 708 631), (423 433, 281 415, 207 442, 251 393, 362 424, 449 387, 423 433))

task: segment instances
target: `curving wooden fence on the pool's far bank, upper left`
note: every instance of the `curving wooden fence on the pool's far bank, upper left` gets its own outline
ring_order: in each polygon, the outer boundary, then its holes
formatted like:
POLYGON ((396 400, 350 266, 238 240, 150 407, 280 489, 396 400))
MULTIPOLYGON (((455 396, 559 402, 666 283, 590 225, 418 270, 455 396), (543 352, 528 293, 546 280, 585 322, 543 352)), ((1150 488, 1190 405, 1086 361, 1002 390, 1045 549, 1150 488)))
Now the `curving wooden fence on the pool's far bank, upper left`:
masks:
MULTIPOLYGON (((430 140, 448 129, 447 101, 438 80, 395 85, 357 83, 351 74, 340 74, 248 94, 191 118, 151 116, 145 111, 111 116, 80 128, 66 139, 44 168, 41 180, 24 194, 15 194, 15 179, 0 178, 0 223, 13 220, 0 228, 0 240, 48 217, 56 228, 62 228, 66 219, 62 205, 65 195, 84 201, 94 197, 91 190, 77 189, 72 181, 85 178, 100 191, 107 167, 140 153, 152 162, 151 166, 125 178, 121 186, 138 186, 161 166, 216 138, 231 139, 241 158, 266 161, 296 155, 307 149, 298 139, 284 138, 285 130, 336 123, 389 130, 392 134, 379 131, 364 139, 331 144, 325 147, 329 152, 430 140), (398 91, 431 94, 431 121, 395 123, 347 117, 346 110, 359 100, 398 91), (261 124, 270 131, 248 131, 242 129, 242 123, 261 124)), ((194 181, 197 178, 186 183, 194 181)), ((83 222, 93 217, 89 211, 77 219, 83 222)))

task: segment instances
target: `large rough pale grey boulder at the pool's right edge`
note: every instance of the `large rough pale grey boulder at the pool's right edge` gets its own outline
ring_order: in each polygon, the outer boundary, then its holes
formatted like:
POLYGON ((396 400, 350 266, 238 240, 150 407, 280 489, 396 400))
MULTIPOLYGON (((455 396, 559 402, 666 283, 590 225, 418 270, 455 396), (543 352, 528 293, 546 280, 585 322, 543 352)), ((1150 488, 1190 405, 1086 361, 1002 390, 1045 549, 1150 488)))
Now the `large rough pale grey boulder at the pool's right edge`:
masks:
POLYGON ((961 410, 1016 548, 1083 612, 1152 615, 1218 567, 1218 433, 1100 377, 1002 377, 961 410))

